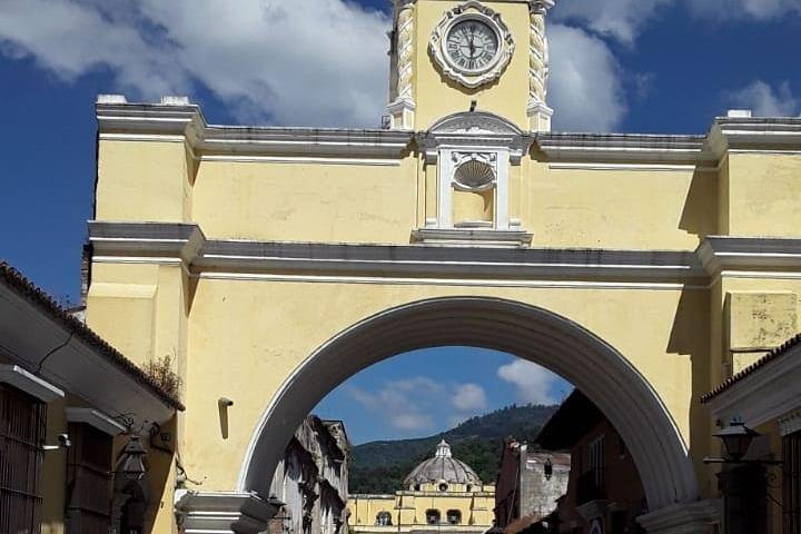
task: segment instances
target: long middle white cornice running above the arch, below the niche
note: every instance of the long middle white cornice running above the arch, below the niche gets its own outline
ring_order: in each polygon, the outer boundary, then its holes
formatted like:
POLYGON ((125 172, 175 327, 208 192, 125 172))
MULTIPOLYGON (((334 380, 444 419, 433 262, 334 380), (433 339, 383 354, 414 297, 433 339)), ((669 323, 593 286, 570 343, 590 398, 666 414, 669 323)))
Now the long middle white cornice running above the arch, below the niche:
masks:
MULTIPOLYGON (((464 237, 464 233, 457 229, 444 237, 455 239, 464 237)), ((503 241, 507 237, 520 243, 527 237, 517 231, 485 233, 483 240, 503 241)), ((96 260, 161 261, 171 257, 195 274, 291 270, 348 276, 382 273, 386 277, 490 276, 703 285, 708 280, 692 251, 207 240, 195 225, 160 222, 91 221, 89 239, 96 260)))

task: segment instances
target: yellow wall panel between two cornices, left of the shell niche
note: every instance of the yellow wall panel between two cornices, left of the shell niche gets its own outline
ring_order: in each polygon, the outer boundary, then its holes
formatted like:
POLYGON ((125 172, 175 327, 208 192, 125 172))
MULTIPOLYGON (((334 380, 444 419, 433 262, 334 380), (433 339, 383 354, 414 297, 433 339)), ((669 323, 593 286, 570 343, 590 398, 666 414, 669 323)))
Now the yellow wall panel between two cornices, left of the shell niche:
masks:
POLYGON ((194 218, 209 238, 408 243, 416 170, 414 158, 389 166, 204 161, 194 218))

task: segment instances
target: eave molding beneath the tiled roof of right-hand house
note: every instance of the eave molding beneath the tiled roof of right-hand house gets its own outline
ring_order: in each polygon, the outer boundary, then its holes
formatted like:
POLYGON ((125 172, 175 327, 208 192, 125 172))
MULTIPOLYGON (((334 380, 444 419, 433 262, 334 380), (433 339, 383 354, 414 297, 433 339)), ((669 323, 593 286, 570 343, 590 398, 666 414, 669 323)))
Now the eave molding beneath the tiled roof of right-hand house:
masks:
POLYGON ((755 428, 801 409, 801 345, 742 377, 712 397, 706 407, 719 421, 742 418, 755 428))

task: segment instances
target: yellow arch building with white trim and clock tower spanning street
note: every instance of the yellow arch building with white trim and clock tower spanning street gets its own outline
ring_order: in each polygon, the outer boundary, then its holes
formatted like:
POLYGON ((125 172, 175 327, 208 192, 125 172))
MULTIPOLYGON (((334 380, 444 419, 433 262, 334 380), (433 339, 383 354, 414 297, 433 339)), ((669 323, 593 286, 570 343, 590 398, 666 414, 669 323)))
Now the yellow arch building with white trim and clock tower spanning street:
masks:
POLYGON ((396 0, 384 129, 98 99, 87 320, 185 384, 186 476, 152 476, 154 532, 259 532, 309 409, 435 345, 578 386, 629 445, 649 532, 716 521, 699 397, 798 329, 801 121, 553 134, 552 3, 396 0))

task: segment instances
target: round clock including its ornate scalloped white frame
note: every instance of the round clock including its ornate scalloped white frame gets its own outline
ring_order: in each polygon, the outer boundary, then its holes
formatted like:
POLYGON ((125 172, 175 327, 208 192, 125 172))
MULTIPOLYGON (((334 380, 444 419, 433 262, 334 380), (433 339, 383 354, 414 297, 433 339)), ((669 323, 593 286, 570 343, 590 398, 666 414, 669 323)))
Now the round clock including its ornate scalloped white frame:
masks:
POLYGON ((429 48, 444 76, 476 88, 501 77, 515 43, 498 12, 468 0, 443 16, 429 48))

